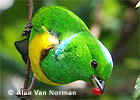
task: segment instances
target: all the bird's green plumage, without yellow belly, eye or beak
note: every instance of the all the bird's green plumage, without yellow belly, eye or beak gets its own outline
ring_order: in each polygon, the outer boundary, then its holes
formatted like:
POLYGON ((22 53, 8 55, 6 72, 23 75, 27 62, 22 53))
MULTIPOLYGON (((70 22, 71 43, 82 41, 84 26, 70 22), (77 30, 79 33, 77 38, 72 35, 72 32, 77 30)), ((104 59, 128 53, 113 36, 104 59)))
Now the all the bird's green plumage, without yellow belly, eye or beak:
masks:
POLYGON ((59 6, 41 8, 33 17, 30 41, 42 34, 42 26, 56 35, 59 45, 48 50, 41 60, 43 73, 53 82, 89 82, 91 75, 102 80, 110 77, 113 62, 108 50, 92 36, 84 22, 73 12, 59 6), (96 69, 91 62, 98 63, 96 69))

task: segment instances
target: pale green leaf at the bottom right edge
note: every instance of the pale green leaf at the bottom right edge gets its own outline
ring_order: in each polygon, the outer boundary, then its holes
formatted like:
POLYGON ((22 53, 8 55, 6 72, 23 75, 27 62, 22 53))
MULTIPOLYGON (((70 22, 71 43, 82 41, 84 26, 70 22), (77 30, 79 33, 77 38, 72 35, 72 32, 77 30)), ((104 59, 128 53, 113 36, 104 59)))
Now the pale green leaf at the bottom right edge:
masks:
POLYGON ((139 97, 140 97, 140 75, 136 80, 136 84, 134 87, 134 92, 133 92, 131 100, 137 100, 139 97))

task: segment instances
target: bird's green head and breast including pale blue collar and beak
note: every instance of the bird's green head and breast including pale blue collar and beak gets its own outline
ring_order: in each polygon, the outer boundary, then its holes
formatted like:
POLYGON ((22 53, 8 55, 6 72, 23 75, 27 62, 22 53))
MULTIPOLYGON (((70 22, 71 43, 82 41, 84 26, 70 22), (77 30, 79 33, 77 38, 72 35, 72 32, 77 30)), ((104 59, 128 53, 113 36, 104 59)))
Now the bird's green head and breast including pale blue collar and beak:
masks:
POLYGON ((56 83, 84 80, 104 91, 113 61, 107 48, 89 33, 81 32, 59 42, 42 60, 41 68, 56 83), (55 72, 55 74, 54 74, 55 72))

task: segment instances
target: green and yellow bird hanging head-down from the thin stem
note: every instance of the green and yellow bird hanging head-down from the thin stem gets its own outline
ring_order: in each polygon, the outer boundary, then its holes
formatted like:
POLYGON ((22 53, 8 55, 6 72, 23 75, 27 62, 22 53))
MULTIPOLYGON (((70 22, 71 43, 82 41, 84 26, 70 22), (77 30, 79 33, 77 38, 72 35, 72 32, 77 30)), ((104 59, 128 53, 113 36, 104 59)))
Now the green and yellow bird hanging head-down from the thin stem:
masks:
POLYGON ((50 85, 83 80, 103 93, 112 57, 77 15, 61 6, 46 6, 34 15, 32 25, 28 53, 36 79, 50 85))

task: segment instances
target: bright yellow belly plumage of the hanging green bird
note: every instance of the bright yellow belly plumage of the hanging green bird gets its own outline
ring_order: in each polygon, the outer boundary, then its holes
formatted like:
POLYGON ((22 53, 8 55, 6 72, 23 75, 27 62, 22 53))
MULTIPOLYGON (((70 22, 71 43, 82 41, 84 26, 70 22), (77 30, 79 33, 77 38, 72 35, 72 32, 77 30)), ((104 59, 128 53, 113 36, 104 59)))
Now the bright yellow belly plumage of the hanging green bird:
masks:
POLYGON ((39 81, 46 84, 64 85, 49 80, 40 68, 41 51, 47 50, 49 48, 52 48, 54 45, 59 44, 59 41, 55 36, 52 36, 44 26, 42 26, 42 28, 44 29, 44 33, 36 34, 29 44, 29 57, 34 76, 39 81))

